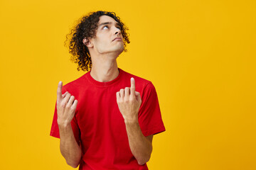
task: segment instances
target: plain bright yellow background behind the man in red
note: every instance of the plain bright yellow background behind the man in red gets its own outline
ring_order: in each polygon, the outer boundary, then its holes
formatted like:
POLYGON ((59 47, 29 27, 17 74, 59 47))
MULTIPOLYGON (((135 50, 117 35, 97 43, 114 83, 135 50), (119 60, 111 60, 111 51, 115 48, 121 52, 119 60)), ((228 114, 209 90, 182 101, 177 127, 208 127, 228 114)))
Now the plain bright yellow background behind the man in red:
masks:
POLYGON ((256 169, 256 1, 0 1, 0 169, 73 169, 50 137, 58 81, 85 74, 65 35, 89 11, 129 27, 118 67, 156 87, 149 169, 256 169))

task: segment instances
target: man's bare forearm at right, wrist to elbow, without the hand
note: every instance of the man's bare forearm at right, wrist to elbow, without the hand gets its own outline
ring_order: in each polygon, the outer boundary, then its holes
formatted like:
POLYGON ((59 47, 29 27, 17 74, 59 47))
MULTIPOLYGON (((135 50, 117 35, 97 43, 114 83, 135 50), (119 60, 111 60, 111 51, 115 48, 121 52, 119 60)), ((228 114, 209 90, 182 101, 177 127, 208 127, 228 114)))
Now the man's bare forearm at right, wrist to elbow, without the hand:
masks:
POLYGON ((129 147, 132 154, 137 159, 138 164, 142 165, 149 161, 152 145, 149 140, 143 135, 141 128, 139 127, 138 120, 124 120, 127 135, 129 139, 129 147))

